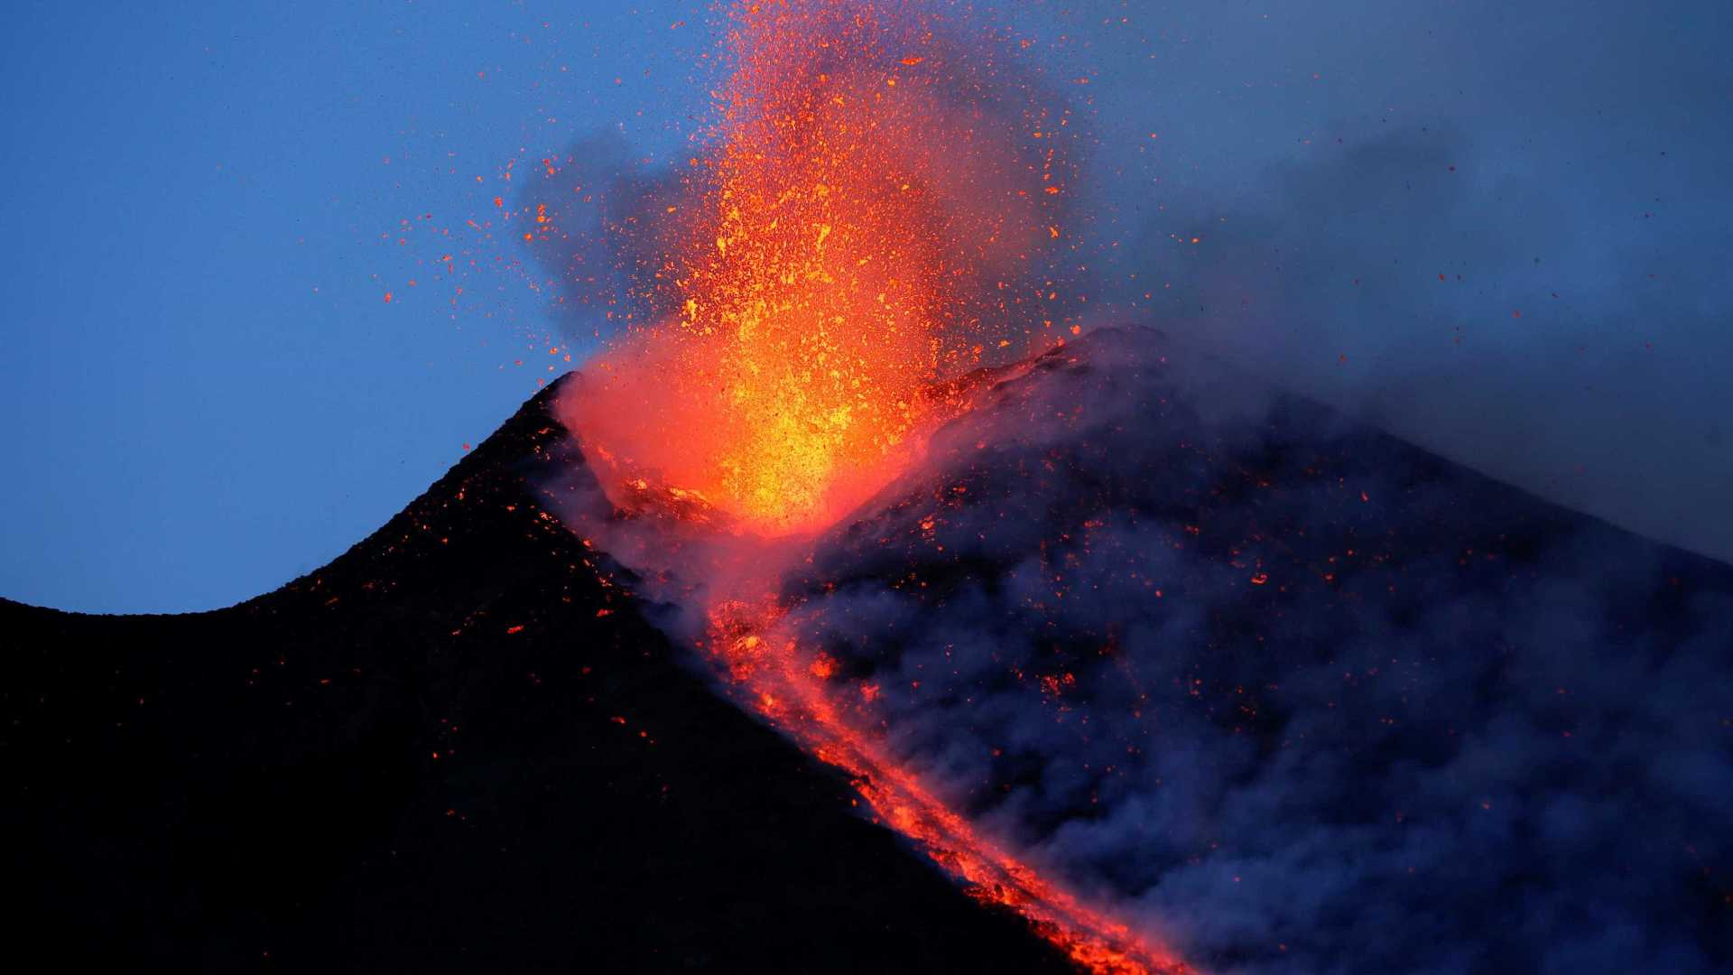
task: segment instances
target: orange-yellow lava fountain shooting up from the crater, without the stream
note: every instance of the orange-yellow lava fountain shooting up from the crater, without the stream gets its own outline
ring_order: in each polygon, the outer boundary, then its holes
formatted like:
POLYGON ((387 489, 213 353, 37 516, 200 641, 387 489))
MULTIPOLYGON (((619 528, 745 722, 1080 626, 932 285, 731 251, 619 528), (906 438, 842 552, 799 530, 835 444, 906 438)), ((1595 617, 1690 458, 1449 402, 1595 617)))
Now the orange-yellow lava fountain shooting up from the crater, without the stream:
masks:
POLYGON ((811 531, 906 461, 924 387, 1028 349, 986 338, 1010 331, 1007 297, 981 295, 1052 246, 1062 170, 1031 135, 1064 121, 960 99, 991 61, 903 5, 745 3, 730 23, 721 121, 641 285, 672 314, 587 370, 568 420, 610 484, 811 531))

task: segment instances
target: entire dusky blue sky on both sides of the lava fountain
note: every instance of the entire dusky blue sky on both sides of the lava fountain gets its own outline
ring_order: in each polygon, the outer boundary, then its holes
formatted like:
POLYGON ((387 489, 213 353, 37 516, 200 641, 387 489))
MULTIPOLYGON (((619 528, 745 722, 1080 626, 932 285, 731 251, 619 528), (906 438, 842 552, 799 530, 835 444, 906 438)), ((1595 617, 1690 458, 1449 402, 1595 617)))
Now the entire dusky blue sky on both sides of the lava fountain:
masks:
MULTIPOLYGON (((1726 3, 1014 7, 1095 113, 1102 319, 1733 555, 1726 3)), ((714 49, 704 3, 9 21, 0 595, 83 611, 310 571, 579 363, 511 189, 678 154, 714 49)))

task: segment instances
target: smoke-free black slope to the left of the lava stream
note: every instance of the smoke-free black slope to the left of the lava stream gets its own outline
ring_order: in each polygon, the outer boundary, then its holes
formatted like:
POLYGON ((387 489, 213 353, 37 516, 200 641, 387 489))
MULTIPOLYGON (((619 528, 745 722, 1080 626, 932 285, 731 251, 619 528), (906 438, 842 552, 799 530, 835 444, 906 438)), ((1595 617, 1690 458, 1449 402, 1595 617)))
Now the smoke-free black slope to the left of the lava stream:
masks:
POLYGON ((248 604, 116 618, 0 600, 14 956, 1064 970, 598 581, 525 486, 563 439, 546 402, 248 604))

